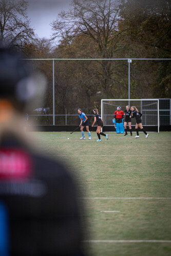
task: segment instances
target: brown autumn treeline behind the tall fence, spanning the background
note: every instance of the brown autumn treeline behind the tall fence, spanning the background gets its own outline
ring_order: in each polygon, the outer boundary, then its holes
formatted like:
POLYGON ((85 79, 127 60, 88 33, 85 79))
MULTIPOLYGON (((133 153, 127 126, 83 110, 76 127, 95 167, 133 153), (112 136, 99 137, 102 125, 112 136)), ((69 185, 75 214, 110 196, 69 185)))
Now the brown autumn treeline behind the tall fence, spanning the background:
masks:
MULTIPOLYGON (((20 5, 13 8, 13 19, 7 13, 16 1, 0 3, 1 39, 29 58, 170 58, 169 0, 73 0, 71 9, 51 23, 49 40, 36 38, 29 27, 26 1, 17 1, 20 5)), ((52 62, 33 64, 48 77, 44 107, 52 112, 52 62)), ((170 61, 132 61, 130 98, 171 97, 170 70, 170 61)), ((55 62, 56 114, 66 109, 77 113, 79 107, 88 114, 100 108, 101 99, 127 98, 127 61, 55 62)))

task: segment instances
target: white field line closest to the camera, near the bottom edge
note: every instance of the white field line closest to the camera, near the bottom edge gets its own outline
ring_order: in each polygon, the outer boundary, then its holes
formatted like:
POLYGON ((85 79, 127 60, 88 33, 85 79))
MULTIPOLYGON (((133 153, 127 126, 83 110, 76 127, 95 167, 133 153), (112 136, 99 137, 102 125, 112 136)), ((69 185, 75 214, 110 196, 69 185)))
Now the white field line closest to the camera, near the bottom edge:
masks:
POLYGON ((171 243, 171 240, 85 240, 84 243, 171 243))

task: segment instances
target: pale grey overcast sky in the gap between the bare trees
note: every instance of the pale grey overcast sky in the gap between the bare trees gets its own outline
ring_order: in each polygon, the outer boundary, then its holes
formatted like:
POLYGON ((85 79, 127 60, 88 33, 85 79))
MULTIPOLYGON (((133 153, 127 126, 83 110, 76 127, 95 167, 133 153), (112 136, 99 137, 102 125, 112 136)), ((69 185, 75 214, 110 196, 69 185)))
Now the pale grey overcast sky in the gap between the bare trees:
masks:
POLYGON ((30 25, 39 37, 50 38, 50 23, 62 10, 68 10, 71 0, 28 0, 30 25))

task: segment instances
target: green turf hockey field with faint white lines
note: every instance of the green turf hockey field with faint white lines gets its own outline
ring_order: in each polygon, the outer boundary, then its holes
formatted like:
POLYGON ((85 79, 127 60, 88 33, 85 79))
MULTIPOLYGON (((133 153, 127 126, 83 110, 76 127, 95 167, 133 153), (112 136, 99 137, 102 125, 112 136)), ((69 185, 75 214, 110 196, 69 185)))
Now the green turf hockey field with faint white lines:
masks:
POLYGON ((32 133, 75 174, 89 255, 171 255, 171 133, 108 134, 96 142, 96 132, 91 141, 87 132, 32 133))

